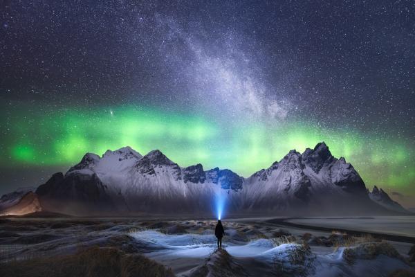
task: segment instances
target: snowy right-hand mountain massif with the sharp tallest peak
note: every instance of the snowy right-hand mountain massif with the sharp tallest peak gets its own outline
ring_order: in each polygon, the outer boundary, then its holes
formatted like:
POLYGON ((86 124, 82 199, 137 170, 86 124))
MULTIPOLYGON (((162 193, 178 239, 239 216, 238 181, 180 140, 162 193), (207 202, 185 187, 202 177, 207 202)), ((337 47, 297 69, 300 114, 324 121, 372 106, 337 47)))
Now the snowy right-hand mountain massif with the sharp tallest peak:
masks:
POLYGON ((244 207, 252 210, 304 213, 326 207, 337 212, 351 199, 354 205, 343 213, 377 208, 369 202, 358 172, 344 158, 333 157, 325 143, 303 154, 291 150, 281 161, 246 179, 244 188, 244 207))

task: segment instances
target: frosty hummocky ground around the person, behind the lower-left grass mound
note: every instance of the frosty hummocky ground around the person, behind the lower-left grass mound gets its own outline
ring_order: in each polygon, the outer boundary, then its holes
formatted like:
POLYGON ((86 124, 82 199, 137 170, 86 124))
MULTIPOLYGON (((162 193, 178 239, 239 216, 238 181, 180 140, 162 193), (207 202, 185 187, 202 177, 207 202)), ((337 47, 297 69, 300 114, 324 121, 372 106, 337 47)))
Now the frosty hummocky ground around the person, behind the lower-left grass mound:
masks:
POLYGON ((398 269, 414 270, 407 255, 412 244, 288 229, 265 220, 225 220, 223 251, 218 251, 215 224, 131 218, 0 220, 0 262, 7 266, 10 260, 99 246, 142 253, 176 276, 394 276, 398 269))

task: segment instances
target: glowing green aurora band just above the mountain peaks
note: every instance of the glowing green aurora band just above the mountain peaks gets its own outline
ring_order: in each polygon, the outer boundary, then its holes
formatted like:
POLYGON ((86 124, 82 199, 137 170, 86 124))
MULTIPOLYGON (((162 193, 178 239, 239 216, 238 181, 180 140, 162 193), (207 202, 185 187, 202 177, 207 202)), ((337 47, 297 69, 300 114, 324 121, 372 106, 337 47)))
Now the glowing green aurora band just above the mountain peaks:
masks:
POLYGON ((229 168, 244 177, 279 161, 289 150, 303 152, 325 141, 335 157, 353 164, 367 187, 412 195, 414 147, 350 129, 325 129, 301 122, 232 125, 192 114, 151 108, 100 107, 31 111, 2 116, 1 168, 72 166, 86 152, 103 154, 129 145, 141 154, 159 149, 181 166, 229 168), (4 118, 7 118, 6 122, 4 118), (410 166, 409 166, 410 165, 410 166))

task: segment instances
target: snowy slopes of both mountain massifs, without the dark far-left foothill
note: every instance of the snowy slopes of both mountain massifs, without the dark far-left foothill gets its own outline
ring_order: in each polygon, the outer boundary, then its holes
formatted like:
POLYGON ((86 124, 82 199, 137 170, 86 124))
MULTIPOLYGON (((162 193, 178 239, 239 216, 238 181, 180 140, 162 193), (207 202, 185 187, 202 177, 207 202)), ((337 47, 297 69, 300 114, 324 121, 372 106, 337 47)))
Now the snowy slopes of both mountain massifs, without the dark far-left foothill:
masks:
POLYGON ((333 157, 325 143, 303 154, 292 150, 248 179, 230 170, 204 171, 201 164, 182 168, 159 150, 142 157, 127 147, 107 151, 102 159, 89 156, 75 168, 95 172, 110 194, 122 195, 130 211, 212 211, 217 198, 223 198, 226 209, 234 213, 322 207, 335 213, 351 199, 350 213, 377 209, 353 166, 333 157))

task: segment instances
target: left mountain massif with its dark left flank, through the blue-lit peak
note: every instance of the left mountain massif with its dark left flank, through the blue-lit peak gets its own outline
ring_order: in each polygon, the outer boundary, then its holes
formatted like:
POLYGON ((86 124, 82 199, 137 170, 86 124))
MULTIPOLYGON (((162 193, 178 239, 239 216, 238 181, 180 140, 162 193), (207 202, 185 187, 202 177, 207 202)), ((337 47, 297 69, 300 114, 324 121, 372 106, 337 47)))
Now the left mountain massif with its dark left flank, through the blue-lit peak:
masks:
POLYGON ((57 173, 37 193, 49 211, 210 211, 212 195, 241 188, 230 170, 181 168, 159 150, 144 157, 129 147, 99 157, 87 153, 65 175, 57 173), (203 186, 201 186, 203 185, 203 186), (79 200, 79 201, 76 201, 79 200), (78 202, 78 203, 75 203, 78 202))

